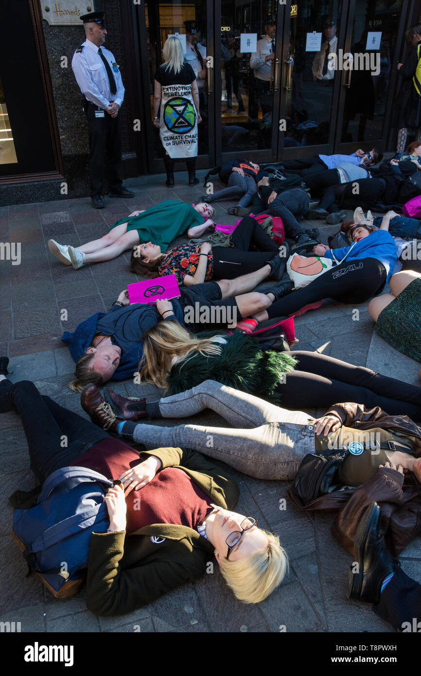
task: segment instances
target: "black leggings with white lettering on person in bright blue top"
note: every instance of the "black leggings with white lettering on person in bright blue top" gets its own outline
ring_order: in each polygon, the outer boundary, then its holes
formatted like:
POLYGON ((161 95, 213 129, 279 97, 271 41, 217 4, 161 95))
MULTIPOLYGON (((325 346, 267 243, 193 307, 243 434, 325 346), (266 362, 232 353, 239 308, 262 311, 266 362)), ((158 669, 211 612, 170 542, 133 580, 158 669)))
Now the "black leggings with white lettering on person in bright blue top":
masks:
POLYGON ((385 287, 387 272, 376 258, 346 260, 326 270, 307 287, 293 291, 268 308, 268 317, 297 312, 309 303, 335 298, 343 303, 364 303, 385 287))

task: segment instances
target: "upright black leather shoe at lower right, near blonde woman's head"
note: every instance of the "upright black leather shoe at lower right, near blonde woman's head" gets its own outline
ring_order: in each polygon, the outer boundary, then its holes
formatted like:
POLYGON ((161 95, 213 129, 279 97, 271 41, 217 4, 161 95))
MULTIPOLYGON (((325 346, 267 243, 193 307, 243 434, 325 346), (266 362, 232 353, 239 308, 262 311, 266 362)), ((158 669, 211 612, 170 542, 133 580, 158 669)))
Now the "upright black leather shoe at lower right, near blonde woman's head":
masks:
POLYGON ((383 581, 396 569, 397 561, 389 554, 380 536, 380 516, 380 507, 372 502, 357 528, 355 562, 348 574, 347 598, 378 603, 383 581), (355 568, 358 572, 353 573, 355 568))

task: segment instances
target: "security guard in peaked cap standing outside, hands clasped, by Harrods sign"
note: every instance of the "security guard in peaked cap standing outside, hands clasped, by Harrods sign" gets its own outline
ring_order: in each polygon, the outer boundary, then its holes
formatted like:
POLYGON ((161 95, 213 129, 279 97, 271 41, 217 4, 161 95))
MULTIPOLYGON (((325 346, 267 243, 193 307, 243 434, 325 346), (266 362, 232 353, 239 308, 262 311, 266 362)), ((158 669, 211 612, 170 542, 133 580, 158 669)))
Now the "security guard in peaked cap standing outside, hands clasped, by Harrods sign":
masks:
POLYGON ((104 161, 107 153, 107 180, 110 197, 134 197, 122 185, 122 125, 119 115, 124 99, 122 76, 116 59, 105 43, 104 14, 84 14, 86 41, 76 49, 72 69, 80 91, 86 99, 89 132, 89 178, 91 200, 95 209, 103 209, 104 161))

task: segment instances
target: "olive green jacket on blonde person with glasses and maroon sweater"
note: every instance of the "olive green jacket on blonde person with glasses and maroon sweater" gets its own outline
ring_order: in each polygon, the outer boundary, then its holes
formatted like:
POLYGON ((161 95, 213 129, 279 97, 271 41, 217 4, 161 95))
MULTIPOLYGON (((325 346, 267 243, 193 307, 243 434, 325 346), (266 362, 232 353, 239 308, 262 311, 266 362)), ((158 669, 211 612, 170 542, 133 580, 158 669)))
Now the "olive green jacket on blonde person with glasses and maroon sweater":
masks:
MULTIPOLYGON (((157 456, 162 468, 177 467, 216 505, 232 509, 239 498, 237 483, 192 450, 158 448, 141 459, 157 456)), ((136 535, 93 533, 89 548, 86 605, 99 615, 131 612, 170 589, 201 577, 214 546, 187 526, 155 523, 136 535)))

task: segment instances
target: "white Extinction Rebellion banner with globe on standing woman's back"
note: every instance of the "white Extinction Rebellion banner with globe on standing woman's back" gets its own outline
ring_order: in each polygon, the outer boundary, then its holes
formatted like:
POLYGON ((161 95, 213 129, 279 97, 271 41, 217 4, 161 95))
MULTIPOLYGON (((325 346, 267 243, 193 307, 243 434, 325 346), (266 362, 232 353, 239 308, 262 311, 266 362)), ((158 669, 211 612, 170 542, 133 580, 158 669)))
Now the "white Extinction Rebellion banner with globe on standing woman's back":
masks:
POLYGON ((191 84, 162 87, 159 137, 170 158, 197 156, 197 114, 191 84))

